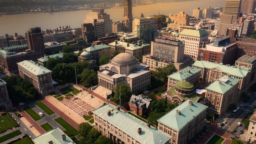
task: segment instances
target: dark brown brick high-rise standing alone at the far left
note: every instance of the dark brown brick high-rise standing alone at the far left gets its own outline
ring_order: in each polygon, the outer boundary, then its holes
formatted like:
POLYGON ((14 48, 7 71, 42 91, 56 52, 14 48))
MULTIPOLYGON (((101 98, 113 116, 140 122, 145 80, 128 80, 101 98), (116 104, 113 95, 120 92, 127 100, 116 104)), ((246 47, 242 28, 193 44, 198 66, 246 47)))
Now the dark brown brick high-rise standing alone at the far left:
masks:
POLYGON ((31 51, 44 51, 45 45, 43 41, 43 33, 40 27, 30 28, 26 32, 28 48, 31 51))

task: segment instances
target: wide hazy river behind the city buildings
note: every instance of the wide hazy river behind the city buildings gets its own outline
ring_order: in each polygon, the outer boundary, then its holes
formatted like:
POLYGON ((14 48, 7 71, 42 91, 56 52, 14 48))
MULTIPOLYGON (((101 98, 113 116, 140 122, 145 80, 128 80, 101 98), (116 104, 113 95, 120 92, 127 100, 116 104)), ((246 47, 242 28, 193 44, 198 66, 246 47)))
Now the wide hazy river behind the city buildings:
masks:
MULTIPOLYGON (((169 2, 144 6, 133 7, 133 17, 143 13, 144 16, 152 14, 176 14, 181 10, 186 14, 192 15, 193 9, 200 7, 201 9, 207 6, 222 7, 225 0, 194 0, 188 2, 169 2)), ((13 34, 18 32, 20 35, 25 35, 25 32, 31 27, 39 26, 41 29, 53 29, 58 26, 71 26, 72 28, 81 27, 86 14, 91 10, 80 10, 70 12, 53 12, 53 13, 36 13, 36 14, 13 14, 0 16, 0 36, 4 34, 13 34)), ((123 19, 123 8, 105 9, 113 22, 123 19)))

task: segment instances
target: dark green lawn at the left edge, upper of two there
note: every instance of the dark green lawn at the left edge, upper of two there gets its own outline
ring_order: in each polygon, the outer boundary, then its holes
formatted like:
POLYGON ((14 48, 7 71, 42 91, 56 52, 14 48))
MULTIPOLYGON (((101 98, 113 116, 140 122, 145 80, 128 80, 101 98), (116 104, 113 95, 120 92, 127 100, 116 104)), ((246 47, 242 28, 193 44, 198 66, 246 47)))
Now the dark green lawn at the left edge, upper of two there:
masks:
POLYGON ((18 126, 18 123, 8 114, 0 117, 0 133, 5 132, 13 127, 18 126))

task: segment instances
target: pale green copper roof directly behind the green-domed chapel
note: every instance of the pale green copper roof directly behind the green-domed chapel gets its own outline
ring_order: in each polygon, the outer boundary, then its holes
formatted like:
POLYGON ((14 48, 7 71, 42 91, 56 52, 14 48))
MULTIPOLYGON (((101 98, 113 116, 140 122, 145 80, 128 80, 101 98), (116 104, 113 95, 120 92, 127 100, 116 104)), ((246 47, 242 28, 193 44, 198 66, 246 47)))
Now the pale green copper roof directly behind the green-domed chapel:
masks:
POLYGON ((178 81, 183 81, 183 80, 186 80, 188 77, 191 77, 196 73, 199 73, 200 71, 201 71, 200 69, 196 69, 194 67, 186 67, 180 71, 177 71, 176 73, 168 75, 168 77, 178 81))

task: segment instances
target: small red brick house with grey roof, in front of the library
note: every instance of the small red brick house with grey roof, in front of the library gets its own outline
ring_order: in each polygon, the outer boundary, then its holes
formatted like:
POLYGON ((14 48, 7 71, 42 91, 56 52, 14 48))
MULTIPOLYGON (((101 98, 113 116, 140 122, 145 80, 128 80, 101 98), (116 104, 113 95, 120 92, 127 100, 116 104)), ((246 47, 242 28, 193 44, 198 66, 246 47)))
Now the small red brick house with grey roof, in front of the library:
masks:
POLYGON ((132 95, 129 100, 129 107, 133 114, 142 116, 150 111, 152 101, 152 99, 142 94, 132 95))

